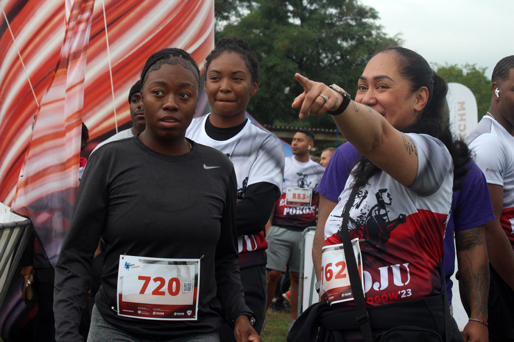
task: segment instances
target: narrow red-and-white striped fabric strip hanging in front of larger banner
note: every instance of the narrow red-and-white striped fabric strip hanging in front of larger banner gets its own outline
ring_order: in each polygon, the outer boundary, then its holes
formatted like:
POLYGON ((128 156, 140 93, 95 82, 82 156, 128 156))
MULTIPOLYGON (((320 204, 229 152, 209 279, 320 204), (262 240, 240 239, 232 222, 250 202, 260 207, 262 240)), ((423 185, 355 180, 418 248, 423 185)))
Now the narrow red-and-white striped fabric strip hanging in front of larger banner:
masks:
POLYGON ((12 209, 32 220, 49 260, 57 261, 79 185, 84 77, 95 0, 76 0, 59 64, 34 121, 12 209))

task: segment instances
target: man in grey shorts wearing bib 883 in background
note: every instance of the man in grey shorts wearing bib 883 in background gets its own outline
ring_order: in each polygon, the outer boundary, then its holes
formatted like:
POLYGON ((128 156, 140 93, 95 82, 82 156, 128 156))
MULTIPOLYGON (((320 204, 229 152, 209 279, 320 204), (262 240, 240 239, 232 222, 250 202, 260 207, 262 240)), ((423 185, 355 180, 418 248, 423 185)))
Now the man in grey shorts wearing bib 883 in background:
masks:
MULTIPOLYGON (((266 236, 267 305, 269 307, 271 304, 277 283, 289 265, 291 323, 297 318, 302 232, 305 228, 316 225, 319 197, 315 188, 325 170, 323 166, 310 160, 309 151, 313 146, 314 134, 310 130, 301 129, 293 136, 293 156, 285 159, 282 195, 275 203, 270 218, 271 227, 266 236)), ((289 325, 291 326, 292 324, 289 325)))

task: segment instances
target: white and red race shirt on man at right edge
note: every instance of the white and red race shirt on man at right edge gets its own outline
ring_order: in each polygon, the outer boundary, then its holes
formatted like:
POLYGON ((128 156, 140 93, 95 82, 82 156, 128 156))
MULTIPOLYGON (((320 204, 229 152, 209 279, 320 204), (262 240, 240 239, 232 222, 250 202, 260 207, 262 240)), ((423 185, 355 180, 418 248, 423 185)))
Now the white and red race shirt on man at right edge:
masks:
POLYGON ((487 183, 503 186, 500 223, 514 248, 514 137, 498 121, 485 116, 469 135, 468 143, 487 183))

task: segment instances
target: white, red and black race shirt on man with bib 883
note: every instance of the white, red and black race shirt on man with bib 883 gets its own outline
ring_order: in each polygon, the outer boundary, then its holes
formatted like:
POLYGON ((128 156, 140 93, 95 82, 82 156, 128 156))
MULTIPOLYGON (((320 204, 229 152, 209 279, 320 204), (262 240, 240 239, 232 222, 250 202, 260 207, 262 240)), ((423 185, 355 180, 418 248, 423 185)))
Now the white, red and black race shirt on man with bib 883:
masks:
POLYGON ((285 159, 282 195, 275 203, 273 225, 299 231, 316 225, 318 194, 314 189, 321 181, 324 171, 323 166, 310 159, 306 163, 299 162, 295 157, 285 159), (309 189, 310 195, 307 197, 310 196, 310 205, 304 205, 301 200, 295 202, 293 199, 293 195, 302 195, 302 198, 305 196, 306 192, 301 189, 309 189), (290 205, 291 203, 296 205, 290 205))

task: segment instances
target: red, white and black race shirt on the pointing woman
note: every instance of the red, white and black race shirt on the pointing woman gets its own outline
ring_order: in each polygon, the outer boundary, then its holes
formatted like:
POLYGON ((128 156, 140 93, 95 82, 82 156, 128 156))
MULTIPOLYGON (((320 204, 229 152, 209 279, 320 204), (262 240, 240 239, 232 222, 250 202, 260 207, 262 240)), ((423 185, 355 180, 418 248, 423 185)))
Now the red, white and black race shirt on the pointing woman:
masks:
MULTIPOLYGON (((408 188, 380 172, 363 186, 350 210, 348 231, 362 239, 363 283, 371 306, 440 293, 439 262, 448 220, 453 162, 442 142, 408 134, 418 154, 418 172, 408 188)), ((401 167, 401 165, 398 165, 401 167)), ((352 190, 350 176, 325 225, 325 245, 338 234, 352 190)))

